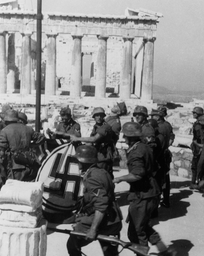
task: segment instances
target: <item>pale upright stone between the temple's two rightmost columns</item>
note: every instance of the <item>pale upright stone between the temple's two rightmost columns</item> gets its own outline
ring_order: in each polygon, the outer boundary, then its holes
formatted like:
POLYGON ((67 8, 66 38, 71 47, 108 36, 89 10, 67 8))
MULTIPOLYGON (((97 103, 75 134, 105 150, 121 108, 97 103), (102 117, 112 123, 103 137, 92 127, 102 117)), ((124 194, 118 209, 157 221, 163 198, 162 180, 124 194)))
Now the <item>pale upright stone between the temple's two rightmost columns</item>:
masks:
POLYGON ((141 97, 141 79, 142 79, 142 67, 143 67, 143 55, 144 55, 144 43, 143 38, 139 38, 137 41, 137 53, 135 59, 135 92, 134 94, 141 97))

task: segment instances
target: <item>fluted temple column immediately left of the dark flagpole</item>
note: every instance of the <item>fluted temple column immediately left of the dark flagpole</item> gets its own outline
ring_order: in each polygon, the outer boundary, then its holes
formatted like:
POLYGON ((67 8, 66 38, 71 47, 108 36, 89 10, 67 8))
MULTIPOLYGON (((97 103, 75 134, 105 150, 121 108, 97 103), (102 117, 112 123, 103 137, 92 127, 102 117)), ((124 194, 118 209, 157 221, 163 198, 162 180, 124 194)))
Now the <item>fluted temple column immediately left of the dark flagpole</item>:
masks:
POLYGON ((31 94, 31 35, 22 34, 20 93, 31 94))

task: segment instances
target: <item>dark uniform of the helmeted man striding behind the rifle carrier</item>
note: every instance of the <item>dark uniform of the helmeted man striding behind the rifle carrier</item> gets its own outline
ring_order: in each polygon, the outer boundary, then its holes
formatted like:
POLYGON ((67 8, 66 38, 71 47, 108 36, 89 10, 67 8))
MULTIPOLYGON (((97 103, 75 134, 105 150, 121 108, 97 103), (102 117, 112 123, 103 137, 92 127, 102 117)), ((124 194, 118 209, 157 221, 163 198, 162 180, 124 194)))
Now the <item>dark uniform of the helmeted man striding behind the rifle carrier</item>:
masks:
POLYGON ((141 245, 148 246, 148 241, 156 244, 160 237, 149 226, 151 213, 158 205, 160 195, 158 184, 152 176, 153 154, 147 145, 137 142, 129 147, 126 157, 129 172, 137 177, 137 181, 130 182, 128 195, 128 238, 131 242, 141 245))

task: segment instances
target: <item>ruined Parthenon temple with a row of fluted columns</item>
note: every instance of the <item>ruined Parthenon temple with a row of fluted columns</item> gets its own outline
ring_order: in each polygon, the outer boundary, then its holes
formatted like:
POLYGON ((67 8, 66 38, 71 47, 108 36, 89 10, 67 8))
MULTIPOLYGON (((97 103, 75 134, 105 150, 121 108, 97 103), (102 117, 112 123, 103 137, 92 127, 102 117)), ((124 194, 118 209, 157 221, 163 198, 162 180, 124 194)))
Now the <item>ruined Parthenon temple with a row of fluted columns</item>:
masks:
MULTIPOLYGON (((125 15, 43 13, 42 89, 96 98, 152 100, 156 28, 162 14, 130 8, 125 15), (83 59, 89 79, 82 86, 83 59), (88 63, 88 62, 87 62, 88 63), (95 89, 95 90, 94 90, 95 89)), ((32 11, 0 11, 0 93, 35 94, 36 19, 32 11)))

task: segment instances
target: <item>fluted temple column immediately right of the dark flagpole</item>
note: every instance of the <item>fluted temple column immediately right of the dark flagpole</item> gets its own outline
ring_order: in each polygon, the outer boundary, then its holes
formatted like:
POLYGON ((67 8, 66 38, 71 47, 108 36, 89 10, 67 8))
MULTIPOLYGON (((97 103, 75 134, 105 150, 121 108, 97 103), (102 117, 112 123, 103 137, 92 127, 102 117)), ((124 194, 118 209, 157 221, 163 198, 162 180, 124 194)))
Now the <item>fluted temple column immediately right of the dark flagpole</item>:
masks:
POLYGON ((45 95, 56 95, 56 37, 47 34, 47 58, 45 73, 45 95))

